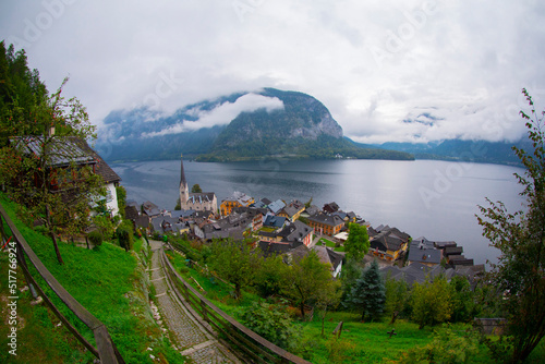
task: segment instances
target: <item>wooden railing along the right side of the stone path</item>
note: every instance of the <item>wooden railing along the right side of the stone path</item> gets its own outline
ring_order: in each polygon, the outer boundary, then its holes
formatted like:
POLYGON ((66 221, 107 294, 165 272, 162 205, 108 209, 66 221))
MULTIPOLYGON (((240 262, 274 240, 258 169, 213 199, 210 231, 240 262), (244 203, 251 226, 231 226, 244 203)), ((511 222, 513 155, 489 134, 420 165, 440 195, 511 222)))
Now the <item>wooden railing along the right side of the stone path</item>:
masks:
MULTIPOLYGON (((172 246, 170 246, 170 248, 173 251, 172 246)), ((208 324, 216 333, 221 333, 222 338, 225 338, 233 349, 243 353, 249 362, 311 364, 311 362, 258 336, 216 307, 175 271, 164 250, 161 250, 161 259, 162 266, 166 268, 166 276, 180 301, 187 302, 193 311, 201 316, 197 317, 198 319, 208 324)))

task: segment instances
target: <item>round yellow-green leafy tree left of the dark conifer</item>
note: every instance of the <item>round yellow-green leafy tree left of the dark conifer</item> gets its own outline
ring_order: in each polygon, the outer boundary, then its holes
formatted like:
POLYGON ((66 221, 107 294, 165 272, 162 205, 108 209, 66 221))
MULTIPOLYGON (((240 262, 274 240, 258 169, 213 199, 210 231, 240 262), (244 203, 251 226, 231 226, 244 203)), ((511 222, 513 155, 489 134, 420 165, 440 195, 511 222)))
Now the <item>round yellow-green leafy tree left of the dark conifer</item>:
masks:
POLYGON ((319 262, 316 252, 311 251, 302 258, 293 259, 293 265, 287 272, 284 293, 291 298, 301 310, 301 317, 305 316, 305 305, 325 292, 332 292, 331 286, 336 284, 331 276, 330 266, 319 262))

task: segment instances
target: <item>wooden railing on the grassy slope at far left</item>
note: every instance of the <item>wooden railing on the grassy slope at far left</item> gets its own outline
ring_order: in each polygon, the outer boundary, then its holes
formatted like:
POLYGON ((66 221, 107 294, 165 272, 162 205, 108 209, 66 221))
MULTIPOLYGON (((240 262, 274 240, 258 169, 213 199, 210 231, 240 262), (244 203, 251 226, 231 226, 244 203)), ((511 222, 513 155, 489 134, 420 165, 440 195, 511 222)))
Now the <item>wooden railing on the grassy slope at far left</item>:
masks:
POLYGON ((51 275, 51 272, 41 263, 38 256, 31 248, 26 240, 20 233, 13 221, 10 219, 5 213, 2 205, 0 205, 0 241, 2 245, 11 239, 9 243, 9 252, 16 255, 19 268, 23 271, 27 284, 31 290, 35 290, 48 305, 48 307, 55 313, 55 315, 62 321, 62 324, 69 329, 69 331, 93 355, 100 360, 102 364, 124 364, 123 357, 119 353, 118 349, 111 341, 110 335, 106 326, 93 316, 80 302, 77 302, 62 286, 59 281, 51 275), (11 230, 11 236, 4 231, 3 221, 8 225, 11 230), (13 244, 14 243, 14 244, 13 244), (37 284, 34 277, 31 275, 28 267, 26 265, 26 257, 31 264, 36 268, 39 276, 46 281, 46 283, 51 288, 51 290, 59 296, 59 299, 66 305, 74 315, 82 320, 94 333, 96 348, 90 344, 77 329, 64 317, 64 315, 59 311, 59 308, 51 302, 44 290, 37 284))

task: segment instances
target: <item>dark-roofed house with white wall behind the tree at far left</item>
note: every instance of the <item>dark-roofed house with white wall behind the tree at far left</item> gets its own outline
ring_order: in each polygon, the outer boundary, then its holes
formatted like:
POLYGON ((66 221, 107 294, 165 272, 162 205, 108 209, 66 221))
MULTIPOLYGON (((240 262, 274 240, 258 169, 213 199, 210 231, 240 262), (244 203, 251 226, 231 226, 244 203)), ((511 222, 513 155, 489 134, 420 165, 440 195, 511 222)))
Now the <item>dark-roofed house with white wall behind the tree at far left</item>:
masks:
MULTIPOLYGON (((51 133, 55 134, 55 129, 52 129, 51 133)), ((39 158, 44 141, 45 138, 41 136, 14 136, 10 138, 10 144, 21 148, 26 155, 34 155, 39 158)), ((49 186, 51 191, 68 193, 78 178, 78 169, 82 166, 87 166, 93 173, 100 175, 106 184, 106 209, 111 215, 119 214, 116 187, 119 186, 121 178, 89 147, 86 141, 76 136, 57 136, 50 139, 49 147, 50 166, 48 168, 51 169, 51 173, 60 175, 62 171, 71 175, 70 179, 66 178, 64 181, 53 178, 49 186)))

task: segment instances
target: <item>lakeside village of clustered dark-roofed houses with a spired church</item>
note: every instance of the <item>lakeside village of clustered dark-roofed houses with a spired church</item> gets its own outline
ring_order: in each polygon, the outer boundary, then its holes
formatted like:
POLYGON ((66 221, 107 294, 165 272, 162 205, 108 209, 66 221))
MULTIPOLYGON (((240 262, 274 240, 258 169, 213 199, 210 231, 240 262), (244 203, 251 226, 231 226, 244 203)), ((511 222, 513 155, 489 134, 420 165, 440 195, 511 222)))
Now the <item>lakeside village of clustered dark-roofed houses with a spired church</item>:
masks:
POLYGON ((128 202, 125 218, 147 234, 186 235, 190 240, 210 242, 214 239, 243 240, 251 238, 255 248, 264 256, 275 254, 302 257, 311 250, 320 260, 330 265, 331 275, 342 271, 343 242, 349 236, 349 225, 365 226, 370 250, 365 260, 377 259, 382 271, 409 284, 426 278, 445 275, 473 278, 485 270, 463 255, 463 247, 453 241, 431 241, 424 236, 413 239, 395 227, 372 227, 354 211, 344 211, 335 202, 322 208, 294 199, 270 201, 234 192, 218 206, 214 192, 189 192, 183 158, 181 160, 179 207, 159 208, 153 202, 138 205, 128 202))

